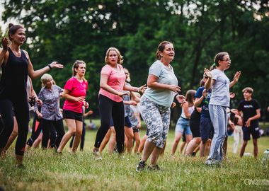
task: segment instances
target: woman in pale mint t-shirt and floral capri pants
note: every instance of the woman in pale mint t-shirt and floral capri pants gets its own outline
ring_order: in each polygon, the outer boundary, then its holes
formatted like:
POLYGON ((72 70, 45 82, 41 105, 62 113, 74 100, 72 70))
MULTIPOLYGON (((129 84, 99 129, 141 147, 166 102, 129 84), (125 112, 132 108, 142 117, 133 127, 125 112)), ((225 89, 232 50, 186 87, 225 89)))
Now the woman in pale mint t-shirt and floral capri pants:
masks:
MULTIPOLYGON (((140 112, 147 125, 149 136, 144 146, 142 161, 137 165, 137 172, 144 170, 147 159, 151 155, 151 170, 160 170, 156 164, 161 149, 167 138, 170 124, 170 107, 174 107, 173 99, 181 91, 178 79, 169 64, 175 55, 173 44, 161 42, 156 52, 157 61, 149 68, 147 90, 140 101, 140 112)), ((180 96, 184 102, 184 96, 180 96)))

